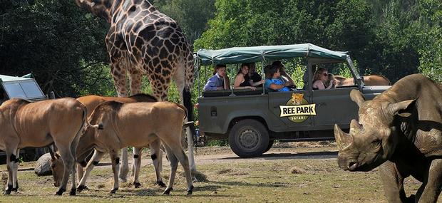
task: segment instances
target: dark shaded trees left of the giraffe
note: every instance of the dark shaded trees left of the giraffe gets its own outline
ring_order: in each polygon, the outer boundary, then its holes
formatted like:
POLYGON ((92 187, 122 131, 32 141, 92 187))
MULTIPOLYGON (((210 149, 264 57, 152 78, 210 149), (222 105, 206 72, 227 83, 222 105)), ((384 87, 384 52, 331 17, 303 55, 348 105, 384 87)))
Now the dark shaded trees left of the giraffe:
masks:
POLYGON ((100 77, 88 71, 106 61, 106 28, 74 1, 0 1, 0 8, 1 74, 33 73, 58 97, 79 95, 91 86, 85 77, 100 77))

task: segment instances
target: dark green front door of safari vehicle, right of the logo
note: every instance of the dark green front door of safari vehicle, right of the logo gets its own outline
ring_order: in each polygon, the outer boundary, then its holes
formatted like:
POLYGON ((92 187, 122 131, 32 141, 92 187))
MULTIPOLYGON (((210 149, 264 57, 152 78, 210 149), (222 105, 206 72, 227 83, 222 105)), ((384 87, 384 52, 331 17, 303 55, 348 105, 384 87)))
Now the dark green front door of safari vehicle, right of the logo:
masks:
POLYGON ((315 130, 331 130, 334 124, 349 126, 357 119, 358 106, 350 99, 350 91, 356 87, 330 90, 313 90, 312 102, 316 104, 315 130))

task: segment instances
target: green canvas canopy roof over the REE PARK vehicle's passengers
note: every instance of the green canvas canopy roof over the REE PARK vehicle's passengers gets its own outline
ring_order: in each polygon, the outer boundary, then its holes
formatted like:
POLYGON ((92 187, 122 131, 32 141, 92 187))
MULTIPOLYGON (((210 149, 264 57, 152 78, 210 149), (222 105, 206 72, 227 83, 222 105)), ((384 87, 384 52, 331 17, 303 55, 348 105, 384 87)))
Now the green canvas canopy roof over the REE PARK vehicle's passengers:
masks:
POLYGON ((348 52, 331 51, 312 43, 232 47, 218 50, 200 49, 197 57, 202 65, 253 63, 259 61, 276 61, 285 58, 307 57, 328 59, 330 62, 346 61, 348 52))

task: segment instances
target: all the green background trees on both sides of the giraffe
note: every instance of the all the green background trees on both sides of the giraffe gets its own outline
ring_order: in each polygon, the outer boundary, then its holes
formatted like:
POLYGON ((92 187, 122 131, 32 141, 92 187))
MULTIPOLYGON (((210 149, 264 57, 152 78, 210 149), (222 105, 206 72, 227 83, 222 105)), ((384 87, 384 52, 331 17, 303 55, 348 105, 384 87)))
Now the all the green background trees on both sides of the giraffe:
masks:
MULTIPOLYGON (((423 73, 442 81, 440 0, 151 0, 178 21, 197 48, 314 43, 349 51, 361 75, 391 81, 423 73)), ((0 73, 33 73, 45 93, 116 95, 104 37, 108 25, 74 1, 0 1, 0 73)), ((303 61, 284 61, 302 88, 303 61)), ((230 67, 233 78, 236 68, 230 67)), ((257 63, 257 70, 262 64, 257 63)), ((212 66, 200 67, 192 88, 197 103, 212 66)), ((336 67, 336 75, 349 77, 336 67)), ((148 80, 143 92, 151 93, 148 80)), ((175 85, 168 100, 178 102, 175 85)), ((194 108, 197 116, 197 109, 194 108)))

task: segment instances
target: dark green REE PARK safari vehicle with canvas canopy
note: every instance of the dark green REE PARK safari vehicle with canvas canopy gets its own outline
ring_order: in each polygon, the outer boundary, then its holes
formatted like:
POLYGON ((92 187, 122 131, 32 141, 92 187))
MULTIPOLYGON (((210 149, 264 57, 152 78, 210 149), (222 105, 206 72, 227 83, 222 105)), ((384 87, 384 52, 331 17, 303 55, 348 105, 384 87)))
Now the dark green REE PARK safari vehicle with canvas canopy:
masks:
MULTIPOLYGON (((357 118, 357 105, 349 96, 351 90, 361 91, 369 100, 389 88, 364 85, 348 52, 330 51, 311 43, 200 49, 195 62, 197 80, 202 80, 202 66, 212 69, 216 64, 260 63, 264 67, 272 61, 294 58, 305 63, 304 67, 307 66, 302 88, 290 92, 267 92, 263 88, 199 90, 200 132, 209 138, 228 138, 232 151, 240 157, 260 156, 272 147, 274 140, 334 140, 335 123, 341 129, 349 129, 351 119, 357 118), (324 67, 333 73, 337 66, 347 68, 354 78, 354 85, 327 90, 312 89, 315 67, 324 67)), ((227 69, 235 68, 229 65, 227 69)))

